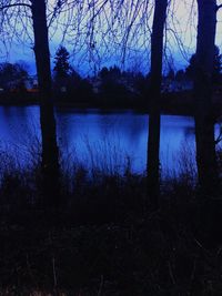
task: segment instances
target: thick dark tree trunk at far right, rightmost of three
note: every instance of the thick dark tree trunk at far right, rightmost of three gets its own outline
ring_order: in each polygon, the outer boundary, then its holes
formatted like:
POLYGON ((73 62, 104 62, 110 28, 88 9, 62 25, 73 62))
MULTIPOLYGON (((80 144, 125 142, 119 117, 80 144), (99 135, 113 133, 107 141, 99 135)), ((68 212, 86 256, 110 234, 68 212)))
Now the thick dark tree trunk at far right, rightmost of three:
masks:
POLYGON ((198 10, 194 78, 196 164, 201 195, 208 197, 216 194, 219 185, 212 112, 216 1, 198 0, 198 10))

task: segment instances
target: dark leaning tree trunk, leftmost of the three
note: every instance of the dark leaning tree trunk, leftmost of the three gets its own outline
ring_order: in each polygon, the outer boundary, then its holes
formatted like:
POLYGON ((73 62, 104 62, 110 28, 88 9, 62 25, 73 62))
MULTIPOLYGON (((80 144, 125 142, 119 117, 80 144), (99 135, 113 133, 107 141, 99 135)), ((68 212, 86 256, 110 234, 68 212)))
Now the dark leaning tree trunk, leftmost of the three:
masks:
POLYGON ((34 54, 40 91, 40 124, 42 136, 43 203, 59 202, 59 152, 53 102, 51 96, 50 51, 46 1, 32 0, 34 54))

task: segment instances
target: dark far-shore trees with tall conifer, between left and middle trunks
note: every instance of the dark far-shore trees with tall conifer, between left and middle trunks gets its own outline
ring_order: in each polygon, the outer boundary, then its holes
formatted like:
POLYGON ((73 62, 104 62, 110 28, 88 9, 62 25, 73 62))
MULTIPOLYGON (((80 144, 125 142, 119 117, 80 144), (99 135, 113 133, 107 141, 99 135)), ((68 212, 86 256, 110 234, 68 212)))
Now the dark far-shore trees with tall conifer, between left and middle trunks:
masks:
POLYGON ((94 75, 83 79, 69 60, 70 53, 65 47, 59 47, 53 62, 53 93, 59 102, 145 109, 148 78, 141 72, 122 71, 117 65, 103 67, 94 75))

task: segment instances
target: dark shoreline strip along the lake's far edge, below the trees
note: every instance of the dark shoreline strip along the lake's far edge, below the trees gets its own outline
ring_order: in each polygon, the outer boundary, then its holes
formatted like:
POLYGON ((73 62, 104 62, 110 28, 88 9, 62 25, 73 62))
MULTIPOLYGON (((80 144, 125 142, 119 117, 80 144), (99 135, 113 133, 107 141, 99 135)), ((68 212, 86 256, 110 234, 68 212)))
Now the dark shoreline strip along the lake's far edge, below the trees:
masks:
MULTIPOLYGON (((140 101, 134 99, 133 101, 129 99, 129 103, 120 102, 120 103, 111 103, 107 102, 104 104, 105 99, 94 98, 94 102, 73 102, 68 99, 62 101, 62 99, 54 100, 54 106, 60 109, 78 109, 78 110, 93 110, 104 112, 115 112, 115 111, 133 111, 137 113, 145 113, 149 114, 149 106, 144 108, 144 99, 143 103, 141 98, 140 101)), ((215 116, 220 116, 222 114, 222 100, 221 95, 213 96, 213 113, 215 116)), ((37 94, 28 95, 24 93, 24 96, 20 96, 20 94, 10 94, 10 96, 6 96, 6 94, 0 95, 0 106, 30 106, 30 105, 39 105, 39 100, 37 94)), ((149 105, 149 98, 148 103, 149 105)), ((184 116, 193 116, 194 115, 194 103, 193 98, 190 92, 183 93, 168 93, 161 96, 161 114, 167 115, 184 115, 184 116)))

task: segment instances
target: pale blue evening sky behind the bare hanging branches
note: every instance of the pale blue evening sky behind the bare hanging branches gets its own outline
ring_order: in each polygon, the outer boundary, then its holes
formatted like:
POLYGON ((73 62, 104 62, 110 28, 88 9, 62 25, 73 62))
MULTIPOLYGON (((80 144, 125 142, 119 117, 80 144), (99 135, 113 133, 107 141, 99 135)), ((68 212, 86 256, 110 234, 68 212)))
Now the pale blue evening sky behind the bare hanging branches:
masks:
MULTIPOLYGON (((53 6, 54 0, 50 0, 53 6)), ((147 24, 140 23, 143 17, 142 8, 135 11, 138 14, 134 17, 129 13, 129 7, 135 0, 125 0, 128 4, 117 18, 120 18, 114 25, 115 34, 108 30, 105 17, 109 16, 109 7, 103 11, 102 17, 95 20, 94 23, 85 22, 87 12, 83 11, 81 20, 82 27, 78 28, 74 23, 78 23, 80 12, 71 11, 73 23, 69 28, 65 28, 67 34, 63 37, 63 24, 70 19, 70 13, 63 13, 60 16, 60 24, 53 23, 50 28, 50 52, 53 67, 53 57, 59 47, 63 44, 71 53, 70 62, 74 68, 83 75, 92 73, 92 71, 99 70, 104 65, 118 64, 122 68, 134 71, 149 71, 149 49, 150 49, 150 33, 148 30, 152 25, 152 14, 149 18, 147 24), (133 24, 131 23, 134 18, 133 24), (122 22, 122 20, 124 22, 122 22), (131 25, 132 24, 132 25, 131 25), (131 25, 131 33, 125 37, 125 31, 131 25), (59 28, 59 29, 58 29, 59 28), (62 29, 60 29, 62 28, 62 29), (92 29, 93 28, 93 29, 92 29), (80 30, 81 35, 78 33, 80 30), (88 35, 88 30, 91 34, 88 35), (91 42, 91 35, 93 34, 93 50, 87 51, 89 42, 91 42), (135 38, 137 35, 137 38, 135 38), (139 35, 139 38, 138 38, 139 35), (113 39, 113 40, 112 40, 113 39), (115 43, 114 43, 115 42, 115 43), (124 43, 125 42, 125 43, 124 43), (94 45, 95 44, 95 45, 94 45), (113 45, 115 44, 115 47, 113 45), (128 51, 123 51, 122 44, 127 44, 128 51)), ((167 23, 167 49, 164 59, 165 70, 169 65, 173 65, 175 70, 184 68, 188 64, 189 58, 195 50, 195 37, 196 37, 196 13, 193 9, 192 18, 190 16, 192 0, 172 0, 173 4, 169 9, 168 23, 167 23), (174 11, 173 17, 172 10, 174 11), (176 31, 180 42, 176 41, 174 32, 176 31)), ((140 1, 142 2, 142 1, 140 1)), ((218 4, 222 3, 222 0, 218 1, 218 4)), ((150 7, 151 8, 151 7, 150 7)), ((78 8, 79 9, 79 8, 78 8)), ((84 9, 83 9, 84 10, 84 9)), ((50 10, 49 10, 50 13, 50 10)), ((90 19, 90 14, 88 16, 90 19)), ((22 31, 22 30, 21 30, 22 31)), ((34 54, 32 51, 32 33, 31 29, 28 29, 29 37, 23 38, 24 42, 20 42, 18 39, 11 41, 10 47, 6 51, 6 48, 0 43, 0 61, 24 61, 29 65, 29 70, 32 74, 36 72, 34 54)), ((178 39, 178 40, 179 40, 178 39)), ((218 28, 216 28, 216 41, 222 52, 222 9, 218 13, 218 28)))

